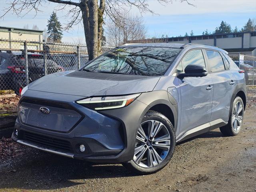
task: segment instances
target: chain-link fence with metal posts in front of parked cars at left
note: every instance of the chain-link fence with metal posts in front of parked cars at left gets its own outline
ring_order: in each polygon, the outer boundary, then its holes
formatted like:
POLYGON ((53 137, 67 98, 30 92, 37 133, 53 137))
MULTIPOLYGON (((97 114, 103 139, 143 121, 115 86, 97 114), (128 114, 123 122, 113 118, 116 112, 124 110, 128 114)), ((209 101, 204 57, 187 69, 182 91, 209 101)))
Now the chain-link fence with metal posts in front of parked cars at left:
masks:
MULTIPOLYGON (((102 52, 112 49, 103 47, 102 52)), ((0 39, 0 90, 22 88, 42 76, 77 70, 88 61, 85 45, 0 39)))

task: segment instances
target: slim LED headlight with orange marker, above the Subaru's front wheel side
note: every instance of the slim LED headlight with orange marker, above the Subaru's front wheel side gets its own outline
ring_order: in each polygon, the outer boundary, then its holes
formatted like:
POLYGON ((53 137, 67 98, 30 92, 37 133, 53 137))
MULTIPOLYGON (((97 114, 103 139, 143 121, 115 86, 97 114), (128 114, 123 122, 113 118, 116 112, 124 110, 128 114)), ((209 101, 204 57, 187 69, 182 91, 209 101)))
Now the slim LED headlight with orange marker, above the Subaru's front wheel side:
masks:
POLYGON ((125 96, 103 96, 103 97, 91 97, 77 101, 85 107, 95 110, 116 109, 124 106, 128 106, 133 102, 139 94, 125 95, 125 96))

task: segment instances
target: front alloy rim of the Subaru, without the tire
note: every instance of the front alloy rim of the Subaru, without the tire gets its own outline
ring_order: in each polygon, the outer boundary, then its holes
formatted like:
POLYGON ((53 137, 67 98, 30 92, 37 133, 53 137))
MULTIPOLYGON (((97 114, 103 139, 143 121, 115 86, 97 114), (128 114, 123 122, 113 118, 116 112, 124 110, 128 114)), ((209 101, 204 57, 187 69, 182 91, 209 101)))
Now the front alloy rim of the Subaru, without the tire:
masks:
POLYGON ((156 120, 142 122, 137 132, 133 161, 141 167, 160 164, 170 150, 170 133, 156 120))

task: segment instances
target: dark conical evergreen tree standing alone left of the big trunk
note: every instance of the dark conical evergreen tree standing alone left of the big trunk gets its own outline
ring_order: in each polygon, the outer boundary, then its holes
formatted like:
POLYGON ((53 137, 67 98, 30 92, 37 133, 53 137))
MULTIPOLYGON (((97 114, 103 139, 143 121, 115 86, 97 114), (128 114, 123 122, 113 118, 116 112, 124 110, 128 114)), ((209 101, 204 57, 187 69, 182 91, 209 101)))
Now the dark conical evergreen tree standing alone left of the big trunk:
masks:
POLYGON ((62 27, 55 12, 52 12, 50 19, 48 20, 47 28, 47 33, 49 34, 48 37, 54 42, 61 42, 63 35, 62 27))

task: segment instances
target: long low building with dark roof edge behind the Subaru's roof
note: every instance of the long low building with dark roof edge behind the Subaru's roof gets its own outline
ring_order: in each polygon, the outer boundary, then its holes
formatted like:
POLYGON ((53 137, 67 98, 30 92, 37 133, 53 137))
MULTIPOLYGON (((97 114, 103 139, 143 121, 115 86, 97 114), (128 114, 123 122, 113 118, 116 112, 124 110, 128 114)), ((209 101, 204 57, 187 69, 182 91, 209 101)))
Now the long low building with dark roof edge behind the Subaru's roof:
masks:
POLYGON ((230 56, 237 56, 238 53, 248 56, 256 56, 256 31, 238 32, 226 34, 198 35, 187 37, 156 38, 145 40, 132 40, 129 43, 203 43, 217 46, 226 50, 230 56))

